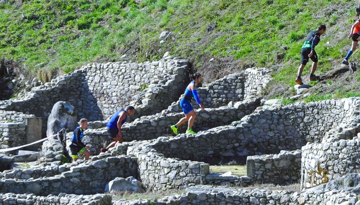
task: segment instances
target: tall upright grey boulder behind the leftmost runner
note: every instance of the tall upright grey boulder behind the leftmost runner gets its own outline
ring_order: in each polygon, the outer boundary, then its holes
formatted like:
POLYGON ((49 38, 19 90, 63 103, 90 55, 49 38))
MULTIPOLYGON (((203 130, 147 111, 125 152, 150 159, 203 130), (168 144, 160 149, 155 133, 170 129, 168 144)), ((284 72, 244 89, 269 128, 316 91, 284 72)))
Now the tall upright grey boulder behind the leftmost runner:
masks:
POLYGON ((71 106, 68 102, 58 101, 52 107, 51 114, 47 120, 46 135, 57 134, 63 128, 73 131, 77 126, 77 111, 75 107, 71 106))

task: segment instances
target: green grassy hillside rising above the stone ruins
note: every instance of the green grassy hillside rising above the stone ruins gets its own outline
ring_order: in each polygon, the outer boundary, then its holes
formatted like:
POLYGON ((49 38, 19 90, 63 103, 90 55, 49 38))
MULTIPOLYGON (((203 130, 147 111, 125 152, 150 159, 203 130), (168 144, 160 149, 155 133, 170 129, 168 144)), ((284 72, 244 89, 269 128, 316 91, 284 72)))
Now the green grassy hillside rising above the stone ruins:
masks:
MULTIPOLYGON (((329 77, 312 84, 316 89, 307 100, 357 96, 358 72, 331 77, 351 45, 347 34, 355 20, 355 4, 350 0, 7 0, 0 4, 0 58, 14 61, 29 76, 49 81, 89 62, 154 60, 170 51, 189 58, 206 81, 247 67, 271 67, 275 80, 264 95, 288 97, 295 92, 293 80, 305 35, 326 24, 328 31, 316 47, 317 74, 329 77), (207 31, 208 26, 214 29, 207 31), (163 31, 171 35, 160 44, 163 31)), ((350 60, 356 60, 358 53, 350 60)))

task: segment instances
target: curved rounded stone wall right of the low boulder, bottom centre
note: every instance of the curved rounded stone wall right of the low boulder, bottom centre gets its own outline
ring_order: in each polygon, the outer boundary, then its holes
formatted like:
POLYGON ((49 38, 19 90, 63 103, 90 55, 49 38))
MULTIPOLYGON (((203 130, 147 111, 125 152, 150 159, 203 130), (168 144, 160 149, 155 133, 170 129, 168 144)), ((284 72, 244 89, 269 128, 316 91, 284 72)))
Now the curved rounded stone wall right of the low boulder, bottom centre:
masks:
POLYGON ((138 158, 142 185, 149 190, 167 190, 202 183, 209 174, 209 164, 164 157, 152 149, 152 145, 161 140, 166 138, 141 141, 127 149, 128 154, 138 158))

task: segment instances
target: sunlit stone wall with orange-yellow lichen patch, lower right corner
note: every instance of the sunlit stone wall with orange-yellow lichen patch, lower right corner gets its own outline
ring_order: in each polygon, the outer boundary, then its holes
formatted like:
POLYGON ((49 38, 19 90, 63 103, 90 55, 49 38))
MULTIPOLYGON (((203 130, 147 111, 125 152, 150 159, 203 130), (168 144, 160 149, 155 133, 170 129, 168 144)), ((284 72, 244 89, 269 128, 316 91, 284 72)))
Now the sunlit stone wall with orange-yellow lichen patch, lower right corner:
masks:
POLYGON ((357 137, 309 144, 302 148, 301 188, 321 185, 359 169, 360 139, 357 137))

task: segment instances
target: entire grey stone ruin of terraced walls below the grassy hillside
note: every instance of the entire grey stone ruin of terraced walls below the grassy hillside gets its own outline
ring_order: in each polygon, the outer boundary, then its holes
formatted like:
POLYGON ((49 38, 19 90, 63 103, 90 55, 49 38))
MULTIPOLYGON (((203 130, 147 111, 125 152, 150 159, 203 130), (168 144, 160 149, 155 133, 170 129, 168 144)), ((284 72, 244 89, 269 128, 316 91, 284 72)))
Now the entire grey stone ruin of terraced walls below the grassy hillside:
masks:
POLYGON ((63 163, 57 139, 41 150, 3 153, 0 204, 360 204, 360 98, 267 106, 259 96, 271 72, 249 68, 199 88, 206 110, 194 106, 198 133, 184 134, 184 125, 174 136, 169 127, 183 116, 178 100, 190 72, 187 60, 174 57, 91 64, 0 101, 1 148, 34 135, 28 120, 45 136, 44 121, 63 100, 78 120, 89 119, 83 142, 92 153, 88 161, 63 163), (99 153, 112 140, 106 119, 129 104, 137 113, 122 128, 125 142, 99 153), (246 164, 246 175, 211 173, 210 165, 229 161, 246 164), (114 200, 104 189, 117 177, 137 179, 148 192, 186 192, 114 200), (247 188, 263 183, 300 183, 301 191, 247 188))

